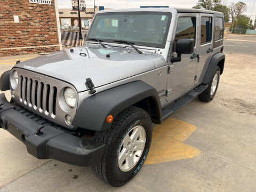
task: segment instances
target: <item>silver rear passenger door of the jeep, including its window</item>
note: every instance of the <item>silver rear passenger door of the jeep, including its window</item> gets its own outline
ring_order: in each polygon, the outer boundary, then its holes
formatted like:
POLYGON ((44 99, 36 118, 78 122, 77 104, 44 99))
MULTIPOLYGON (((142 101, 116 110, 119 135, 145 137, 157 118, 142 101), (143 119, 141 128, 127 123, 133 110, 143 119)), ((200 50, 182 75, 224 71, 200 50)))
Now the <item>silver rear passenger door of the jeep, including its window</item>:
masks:
POLYGON ((200 13, 200 30, 198 38, 199 62, 196 67, 195 84, 203 80, 203 71, 206 71, 213 52, 213 14, 200 13))

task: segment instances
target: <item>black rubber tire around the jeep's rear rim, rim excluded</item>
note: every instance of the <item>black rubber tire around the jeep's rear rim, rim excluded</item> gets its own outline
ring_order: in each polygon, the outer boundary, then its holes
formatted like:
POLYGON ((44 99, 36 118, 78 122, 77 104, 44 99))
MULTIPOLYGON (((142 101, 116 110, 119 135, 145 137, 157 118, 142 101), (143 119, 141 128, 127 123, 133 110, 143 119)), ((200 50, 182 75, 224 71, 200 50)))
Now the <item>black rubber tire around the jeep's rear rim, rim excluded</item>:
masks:
POLYGON ((214 71, 213 71, 213 76, 212 76, 212 79, 211 79, 211 83, 209 84, 209 86, 207 87, 206 90, 204 90, 201 94, 198 95, 198 99, 200 101, 203 101, 203 102, 212 101, 213 98, 215 97, 215 94, 216 94, 217 90, 218 90, 219 82, 220 82, 220 68, 219 68, 219 66, 216 66, 214 71), (217 87, 215 89, 214 94, 211 95, 211 86, 212 86, 212 82, 213 82, 213 78, 214 78, 215 74, 218 74, 218 83, 217 83, 217 87))

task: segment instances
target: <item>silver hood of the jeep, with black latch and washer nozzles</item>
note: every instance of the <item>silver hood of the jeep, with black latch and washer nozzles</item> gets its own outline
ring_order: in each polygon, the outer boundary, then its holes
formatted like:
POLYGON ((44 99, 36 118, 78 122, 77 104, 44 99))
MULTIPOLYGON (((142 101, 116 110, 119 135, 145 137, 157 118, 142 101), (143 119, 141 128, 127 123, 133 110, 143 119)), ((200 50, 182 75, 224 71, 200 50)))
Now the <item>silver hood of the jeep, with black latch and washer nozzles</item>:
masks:
POLYGON ((86 78, 91 78, 94 86, 99 87, 153 70, 156 62, 164 65, 163 56, 147 51, 138 54, 125 47, 103 49, 97 45, 54 52, 14 67, 69 82, 82 92, 87 90, 86 78), (107 56, 109 54, 110 57, 107 56))

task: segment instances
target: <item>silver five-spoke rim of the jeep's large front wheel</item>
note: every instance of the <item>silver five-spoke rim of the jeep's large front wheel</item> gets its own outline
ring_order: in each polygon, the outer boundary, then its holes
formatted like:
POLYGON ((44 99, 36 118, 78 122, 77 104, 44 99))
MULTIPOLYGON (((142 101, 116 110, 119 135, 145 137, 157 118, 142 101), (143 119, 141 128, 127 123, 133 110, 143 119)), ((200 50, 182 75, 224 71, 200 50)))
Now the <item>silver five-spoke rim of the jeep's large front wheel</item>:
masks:
POLYGON ((139 161, 146 144, 146 132, 143 126, 135 126, 125 135, 118 154, 121 171, 130 171, 139 161))

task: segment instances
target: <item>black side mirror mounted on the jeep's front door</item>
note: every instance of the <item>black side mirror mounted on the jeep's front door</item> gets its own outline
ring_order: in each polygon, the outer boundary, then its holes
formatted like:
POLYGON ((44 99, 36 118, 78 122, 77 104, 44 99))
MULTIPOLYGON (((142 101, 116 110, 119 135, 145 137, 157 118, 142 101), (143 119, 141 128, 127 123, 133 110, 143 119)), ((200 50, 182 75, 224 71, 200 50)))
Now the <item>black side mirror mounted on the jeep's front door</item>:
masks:
POLYGON ((176 43, 177 58, 172 57, 171 63, 180 62, 181 54, 192 54, 194 52, 195 39, 182 38, 176 43))

